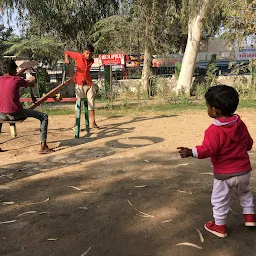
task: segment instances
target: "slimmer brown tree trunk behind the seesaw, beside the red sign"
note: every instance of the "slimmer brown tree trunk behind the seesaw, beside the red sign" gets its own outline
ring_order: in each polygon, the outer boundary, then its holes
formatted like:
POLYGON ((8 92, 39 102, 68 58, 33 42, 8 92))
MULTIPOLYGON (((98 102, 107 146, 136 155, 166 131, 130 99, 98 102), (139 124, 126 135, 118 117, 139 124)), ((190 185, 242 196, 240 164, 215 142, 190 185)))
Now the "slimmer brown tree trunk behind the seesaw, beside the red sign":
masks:
POLYGON ((142 90, 147 93, 149 93, 149 86, 150 86, 151 62, 152 62, 152 59, 151 59, 150 46, 145 45, 141 82, 142 82, 142 90))

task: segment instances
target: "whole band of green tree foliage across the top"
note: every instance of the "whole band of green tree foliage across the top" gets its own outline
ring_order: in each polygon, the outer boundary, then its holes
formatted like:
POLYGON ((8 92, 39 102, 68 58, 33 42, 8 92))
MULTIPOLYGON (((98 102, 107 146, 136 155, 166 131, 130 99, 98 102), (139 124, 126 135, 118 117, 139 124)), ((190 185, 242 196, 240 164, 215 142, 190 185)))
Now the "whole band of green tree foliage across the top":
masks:
POLYGON ((206 2, 203 39, 221 23, 231 40, 255 33, 255 0, 2 0, 0 6, 10 17, 17 8, 30 35, 54 35, 76 50, 91 40, 104 52, 135 51, 147 43, 158 52, 183 52, 188 19, 206 2))

